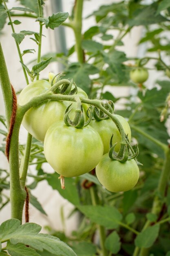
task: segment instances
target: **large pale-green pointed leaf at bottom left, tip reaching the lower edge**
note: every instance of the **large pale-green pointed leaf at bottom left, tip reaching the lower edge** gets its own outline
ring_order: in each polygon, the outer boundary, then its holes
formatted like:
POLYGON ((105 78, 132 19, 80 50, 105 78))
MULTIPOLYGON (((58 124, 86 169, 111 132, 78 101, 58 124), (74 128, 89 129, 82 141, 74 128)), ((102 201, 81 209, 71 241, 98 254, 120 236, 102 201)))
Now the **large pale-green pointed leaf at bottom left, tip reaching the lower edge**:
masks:
POLYGON ((13 236, 13 238, 10 239, 10 242, 13 245, 23 243, 33 247, 36 250, 40 250, 40 252, 45 249, 46 251, 57 256, 76 256, 75 252, 73 252, 68 245, 60 241, 59 238, 50 236, 48 234, 26 234, 23 232, 23 234, 20 236, 18 234, 13 236))

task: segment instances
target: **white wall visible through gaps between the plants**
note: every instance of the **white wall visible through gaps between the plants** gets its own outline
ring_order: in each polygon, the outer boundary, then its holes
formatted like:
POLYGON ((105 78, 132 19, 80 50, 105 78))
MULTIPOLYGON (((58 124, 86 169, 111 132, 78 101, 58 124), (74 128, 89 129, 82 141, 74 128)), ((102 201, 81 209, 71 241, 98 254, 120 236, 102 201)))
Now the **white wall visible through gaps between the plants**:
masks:
MULTIPOLYGON (((54 1, 54 0, 52 0, 54 1)), ((62 0, 63 4, 63 11, 68 11, 68 13, 71 13, 71 8, 73 5, 73 0, 62 0)), ((84 1, 84 12, 83 16, 86 17, 89 13, 92 13, 94 10, 96 10, 100 5, 102 4, 110 4, 113 2, 113 0, 91 0, 91 1, 84 1)), ((51 9, 51 1, 45 1, 46 8, 45 8, 45 16, 49 16, 52 14, 51 9)), ((15 2, 14 0, 9 0, 8 6, 13 7, 16 6, 18 2, 15 2)), ((16 18, 15 18, 16 19, 16 18)), ((33 21, 30 18, 19 18, 20 21, 22 21, 21 25, 15 26, 16 32, 19 32, 20 30, 33 30, 38 31, 38 22, 33 21)), ((95 24, 94 18, 89 18, 84 20, 83 22, 83 31, 86 31, 89 27, 91 27, 91 24, 95 24)), ((71 47, 74 44, 74 36, 71 29, 67 28, 66 31, 66 43, 68 47, 71 47)), ((132 29, 130 34, 128 34, 124 39, 124 46, 119 47, 120 50, 125 51, 127 56, 137 56, 139 49, 137 46, 137 42, 139 41, 139 38, 141 36, 142 27, 135 27, 132 29)), ((117 33, 117 32, 114 32, 117 33)), ((42 54, 48 53, 48 52, 55 52, 55 41, 54 41, 54 34, 53 30, 43 28, 43 34, 46 37, 43 37, 43 43, 42 43, 42 54)), ((11 37, 11 27, 6 25, 3 29, 3 34, 0 35, 0 40, 2 44, 2 48, 4 50, 4 56, 7 63, 7 68, 9 70, 9 77, 11 80, 11 83, 13 84, 16 91, 20 90, 21 88, 24 88, 26 86, 26 82, 24 79, 24 75, 20 66, 19 57, 15 45, 14 39, 11 37)), ((27 36, 23 42, 20 44, 21 51, 24 49, 34 49, 35 43, 29 39, 27 36)), ((33 58, 36 58, 37 52, 33 54, 26 54, 24 56, 24 63, 28 63, 33 58)), ((73 59, 75 59, 76 56, 73 56, 73 59)), ((53 71, 57 73, 58 67, 56 63, 53 63, 49 67, 47 67, 43 72, 41 72, 40 79, 47 77, 48 72, 53 71)), ((150 80, 149 80, 150 81, 150 80)), ((128 93, 128 88, 119 88, 114 87, 110 88, 108 86, 107 90, 114 90, 114 94, 117 96, 124 96, 128 93)), ((4 103, 2 99, 2 92, 0 91, 0 115, 4 115, 4 103)), ((26 141, 26 131, 24 128, 21 128, 20 131, 20 141, 24 142, 26 141)), ((2 137, 0 137, 2 141, 2 137)), ((0 153, 0 167, 1 168, 8 168, 7 159, 0 153)), ((49 171, 52 171, 48 164, 46 164, 46 169, 49 169, 49 171)), ((9 194, 9 191, 6 191, 7 194, 9 194)), ((40 182, 36 189, 32 191, 33 195, 35 195, 39 202, 42 204, 42 207, 48 214, 48 217, 41 214, 38 210, 36 210, 34 207, 30 205, 30 221, 36 222, 43 227, 45 225, 50 225, 54 229, 62 230, 62 221, 60 218, 60 208, 64 207, 64 215, 67 217, 70 213, 71 209, 73 209, 73 206, 67 201, 64 200, 60 194, 57 191, 53 191, 50 186, 47 185, 46 181, 40 182)), ((4 220, 7 220, 7 218, 10 218, 10 205, 8 204, 2 211, 0 211, 0 222, 3 222, 4 220)), ((66 233, 70 234, 71 230, 76 229, 77 226, 77 216, 73 216, 69 219, 66 219, 66 233)))

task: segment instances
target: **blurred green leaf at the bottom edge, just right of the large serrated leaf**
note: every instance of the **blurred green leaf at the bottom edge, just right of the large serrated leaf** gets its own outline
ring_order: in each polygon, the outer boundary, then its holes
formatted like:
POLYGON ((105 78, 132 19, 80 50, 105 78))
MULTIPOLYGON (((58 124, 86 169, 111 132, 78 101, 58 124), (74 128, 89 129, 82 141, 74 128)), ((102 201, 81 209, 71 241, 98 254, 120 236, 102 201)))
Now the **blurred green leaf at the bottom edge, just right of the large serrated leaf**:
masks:
POLYGON ((77 256, 92 256, 96 254, 96 246, 88 242, 73 242, 71 248, 77 256))

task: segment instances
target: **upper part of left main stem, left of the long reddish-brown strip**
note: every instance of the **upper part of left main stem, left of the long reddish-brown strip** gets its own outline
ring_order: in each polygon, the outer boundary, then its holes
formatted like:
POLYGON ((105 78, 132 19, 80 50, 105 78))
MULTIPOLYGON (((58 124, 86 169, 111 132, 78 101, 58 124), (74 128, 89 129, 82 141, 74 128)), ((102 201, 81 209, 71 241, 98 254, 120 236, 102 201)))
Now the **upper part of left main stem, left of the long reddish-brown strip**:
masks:
POLYGON ((3 97, 4 97, 4 103, 5 103, 7 128, 9 130, 11 112, 12 112, 12 104, 13 104, 13 95, 12 95, 11 83, 9 80, 9 75, 8 75, 7 66, 5 63, 1 43, 0 43, 0 84, 1 84, 2 93, 3 93, 3 97))

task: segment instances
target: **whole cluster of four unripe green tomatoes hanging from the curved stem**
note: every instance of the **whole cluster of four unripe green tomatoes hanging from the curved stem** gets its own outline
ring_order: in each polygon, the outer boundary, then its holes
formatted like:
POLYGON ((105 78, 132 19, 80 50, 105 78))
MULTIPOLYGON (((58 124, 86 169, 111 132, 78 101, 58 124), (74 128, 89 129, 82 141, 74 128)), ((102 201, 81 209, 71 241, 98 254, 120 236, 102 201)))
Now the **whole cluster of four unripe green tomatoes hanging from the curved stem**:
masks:
MULTIPOLYGON (((35 81, 20 93, 18 104, 24 105, 31 98, 46 92, 51 84, 45 80, 35 81)), ((86 92, 78 88, 77 94, 88 98, 86 92)), ((99 182, 109 191, 127 191, 132 189, 139 179, 136 161, 121 163, 108 156, 109 141, 113 135, 115 151, 119 151, 121 135, 111 119, 91 121, 88 126, 75 128, 67 126, 64 112, 68 101, 45 101, 30 108, 24 115, 22 124, 36 139, 44 141, 44 155, 52 168, 64 177, 75 177, 96 167, 99 182)), ((72 103, 69 117, 73 118, 77 103, 72 103)), ((83 104, 86 118, 87 104, 83 104)), ((115 115, 122 124, 128 139, 131 139, 130 126, 126 119, 115 115)))

